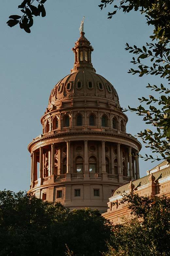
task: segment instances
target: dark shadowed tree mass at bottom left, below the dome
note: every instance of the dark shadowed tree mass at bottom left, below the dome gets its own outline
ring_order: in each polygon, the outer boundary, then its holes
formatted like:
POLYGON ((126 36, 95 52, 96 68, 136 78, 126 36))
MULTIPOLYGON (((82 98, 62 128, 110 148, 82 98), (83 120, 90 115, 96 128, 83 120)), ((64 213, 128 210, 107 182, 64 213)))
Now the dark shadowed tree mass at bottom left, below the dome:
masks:
POLYGON ((70 211, 24 192, 0 191, 0 256, 97 256, 107 250, 110 233, 97 210, 70 211))

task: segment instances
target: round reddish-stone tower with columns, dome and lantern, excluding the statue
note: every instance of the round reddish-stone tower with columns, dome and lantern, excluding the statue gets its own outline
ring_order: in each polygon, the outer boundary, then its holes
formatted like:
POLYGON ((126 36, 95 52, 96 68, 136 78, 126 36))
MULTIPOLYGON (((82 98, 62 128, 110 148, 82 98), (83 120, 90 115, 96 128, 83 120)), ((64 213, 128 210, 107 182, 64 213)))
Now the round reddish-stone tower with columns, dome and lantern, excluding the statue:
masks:
POLYGON ((81 32, 73 52, 74 68, 51 92, 41 118, 42 134, 28 145, 31 186, 42 200, 70 209, 107 211, 118 186, 139 179, 135 157, 141 144, 126 133, 115 88, 96 74, 93 47, 81 32))

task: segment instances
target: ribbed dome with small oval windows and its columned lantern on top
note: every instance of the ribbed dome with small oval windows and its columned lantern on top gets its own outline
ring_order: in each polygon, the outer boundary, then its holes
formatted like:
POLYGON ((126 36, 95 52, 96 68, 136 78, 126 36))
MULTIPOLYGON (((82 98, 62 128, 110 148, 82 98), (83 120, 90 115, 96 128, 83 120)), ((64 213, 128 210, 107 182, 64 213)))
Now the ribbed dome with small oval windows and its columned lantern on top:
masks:
POLYGON ((71 74, 61 79, 51 92, 48 110, 60 105, 61 101, 86 97, 96 100, 104 99, 114 107, 120 107, 119 97, 111 83, 103 76, 95 73, 91 63, 93 47, 81 32, 80 38, 72 49, 75 53, 74 68, 71 74))

